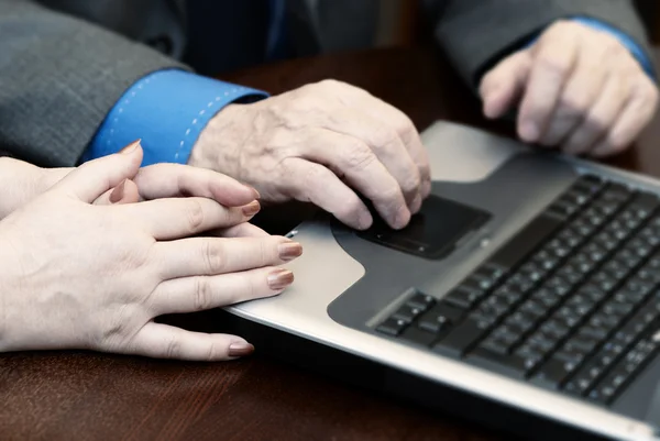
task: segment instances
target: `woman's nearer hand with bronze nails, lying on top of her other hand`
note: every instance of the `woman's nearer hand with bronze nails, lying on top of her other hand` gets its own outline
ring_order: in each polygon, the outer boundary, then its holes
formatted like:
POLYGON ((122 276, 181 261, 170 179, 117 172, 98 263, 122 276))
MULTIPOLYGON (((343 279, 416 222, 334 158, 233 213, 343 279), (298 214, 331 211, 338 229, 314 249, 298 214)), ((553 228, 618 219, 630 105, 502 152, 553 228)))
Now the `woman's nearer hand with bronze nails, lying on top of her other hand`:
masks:
MULTIPOLYGON (((0 221, 0 351, 91 349, 209 361, 252 351, 239 337, 154 318, 277 295, 293 274, 276 265, 299 256, 300 245, 234 238, 258 209, 253 197, 230 208, 209 197, 92 203, 138 176, 141 161, 135 144, 87 163, 0 221), (190 238, 216 229, 228 236, 190 238)), ((242 196, 231 189, 242 186, 226 179, 227 192, 211 185, 209 195, 239 203, 242 196)), ((186 187, 172 186, 154 186, 151 196, 186 187)))

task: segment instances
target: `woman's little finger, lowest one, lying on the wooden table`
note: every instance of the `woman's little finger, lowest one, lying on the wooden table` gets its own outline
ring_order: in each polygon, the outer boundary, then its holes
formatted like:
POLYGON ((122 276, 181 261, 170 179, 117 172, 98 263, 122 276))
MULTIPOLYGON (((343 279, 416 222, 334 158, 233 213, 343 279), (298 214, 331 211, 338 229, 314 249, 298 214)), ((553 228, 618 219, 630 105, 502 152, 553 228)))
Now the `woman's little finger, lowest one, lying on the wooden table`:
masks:
POLYGON ((250 355, 254 346, 240 337, 185 331, 150 322, 138 332, 124 352, 154 359, 226 361, 250 355))

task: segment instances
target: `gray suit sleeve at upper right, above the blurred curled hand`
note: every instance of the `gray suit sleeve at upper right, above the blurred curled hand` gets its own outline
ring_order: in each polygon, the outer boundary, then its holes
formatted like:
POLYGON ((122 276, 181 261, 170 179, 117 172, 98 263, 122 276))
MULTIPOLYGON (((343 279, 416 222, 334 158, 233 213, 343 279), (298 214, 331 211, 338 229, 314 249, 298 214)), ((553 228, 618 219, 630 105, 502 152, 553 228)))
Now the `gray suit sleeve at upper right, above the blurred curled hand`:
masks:
POLYGON ((427 1, 427 5, 436 37, 472 87, 503 56, 552 22, 571 16, 612 24, 650 54, 631 0, 446 0, 427 1))

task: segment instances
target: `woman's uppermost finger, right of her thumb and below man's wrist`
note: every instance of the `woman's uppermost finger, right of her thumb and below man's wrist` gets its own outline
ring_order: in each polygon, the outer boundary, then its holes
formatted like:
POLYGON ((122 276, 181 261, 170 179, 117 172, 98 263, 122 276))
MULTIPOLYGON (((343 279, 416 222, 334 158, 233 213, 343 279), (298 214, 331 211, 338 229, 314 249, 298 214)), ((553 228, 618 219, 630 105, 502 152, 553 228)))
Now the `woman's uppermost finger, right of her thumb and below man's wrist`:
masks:
POLYGON ((258 192, 238 180, 206 168, 183 164, 155 164, 142 168, 135 184, 144 199, 196 196, 226 207, 241 207, 258 199, 258 192))

